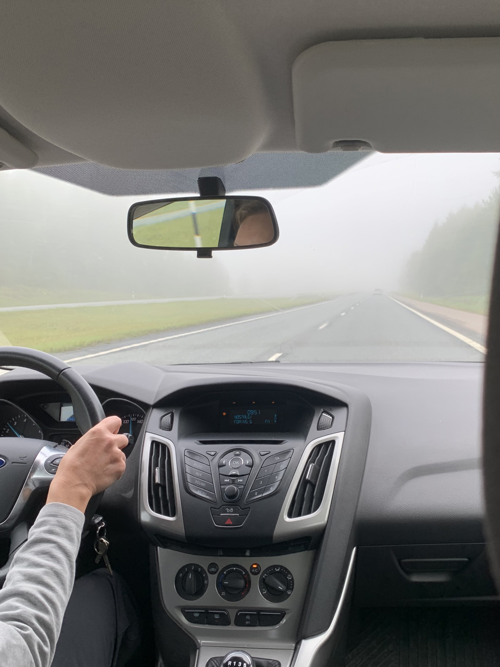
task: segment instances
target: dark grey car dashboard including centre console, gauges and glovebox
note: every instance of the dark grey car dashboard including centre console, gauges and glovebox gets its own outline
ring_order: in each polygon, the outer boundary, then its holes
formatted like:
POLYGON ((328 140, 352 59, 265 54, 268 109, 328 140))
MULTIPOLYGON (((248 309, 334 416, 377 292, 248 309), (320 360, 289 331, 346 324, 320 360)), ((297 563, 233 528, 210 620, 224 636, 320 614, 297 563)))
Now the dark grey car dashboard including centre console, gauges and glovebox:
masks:
MULTIPOLYGON (((321 664, 346 599, 497 600, 480 364, 81 372, 129 434, 127 470, 99 508, 121 546, 113 558, 131 580, 147 571, 156 640, 178 664, 242 646, 281 667, 301 652, 321 664)), ((0 378, 0 434, 79 437, 68 396, 21 369, 0 378)))

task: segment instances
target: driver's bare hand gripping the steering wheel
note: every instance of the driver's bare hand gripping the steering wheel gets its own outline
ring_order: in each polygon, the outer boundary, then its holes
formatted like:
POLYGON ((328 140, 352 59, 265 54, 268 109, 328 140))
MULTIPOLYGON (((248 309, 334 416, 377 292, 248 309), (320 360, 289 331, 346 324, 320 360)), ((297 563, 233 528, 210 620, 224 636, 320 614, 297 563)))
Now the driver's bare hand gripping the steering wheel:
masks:
POLYGON ((87 431, 59 464, 49 488, 49 502, 62 502, 85 512, 92 496, 119 480, 125 472, 127 436, 118 434, 119 417, 107 417, 87 431))

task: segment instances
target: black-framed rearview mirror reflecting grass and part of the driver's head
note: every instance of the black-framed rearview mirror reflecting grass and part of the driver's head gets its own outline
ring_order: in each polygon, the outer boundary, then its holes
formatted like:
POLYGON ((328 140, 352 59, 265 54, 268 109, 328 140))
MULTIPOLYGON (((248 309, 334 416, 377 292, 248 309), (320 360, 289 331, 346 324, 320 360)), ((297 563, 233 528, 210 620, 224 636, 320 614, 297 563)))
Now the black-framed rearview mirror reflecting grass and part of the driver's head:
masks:
POLYGON ((263 197, 192 197, 141 201, 131 206, 129 239, 139 247, 213 250, 265 247, 278 239, 271 204, 263 197))

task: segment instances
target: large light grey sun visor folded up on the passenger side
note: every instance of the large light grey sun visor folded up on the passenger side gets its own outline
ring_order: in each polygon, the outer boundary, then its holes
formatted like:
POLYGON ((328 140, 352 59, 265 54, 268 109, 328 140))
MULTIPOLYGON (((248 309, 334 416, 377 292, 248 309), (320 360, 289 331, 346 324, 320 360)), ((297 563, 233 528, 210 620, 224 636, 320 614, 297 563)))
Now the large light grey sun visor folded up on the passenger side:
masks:
POLYGON ((500 150, 500 39, 326 42, 293 65, 297 147, 500 150))

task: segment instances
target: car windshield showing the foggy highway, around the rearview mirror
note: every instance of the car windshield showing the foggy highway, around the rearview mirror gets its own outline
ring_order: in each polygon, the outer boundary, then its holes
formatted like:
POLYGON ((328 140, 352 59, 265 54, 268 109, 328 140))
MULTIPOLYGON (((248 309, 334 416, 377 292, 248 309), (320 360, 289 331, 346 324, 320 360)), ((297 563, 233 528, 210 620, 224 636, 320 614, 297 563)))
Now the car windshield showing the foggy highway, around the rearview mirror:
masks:
POLYGON ((277 243, 197 259, 127 238, 130 205, 169 193, 2 171, 0 345, 75 366, 480 362, 499 173, 497 154, 371 155, 321 187, 246 191, 277 243))

